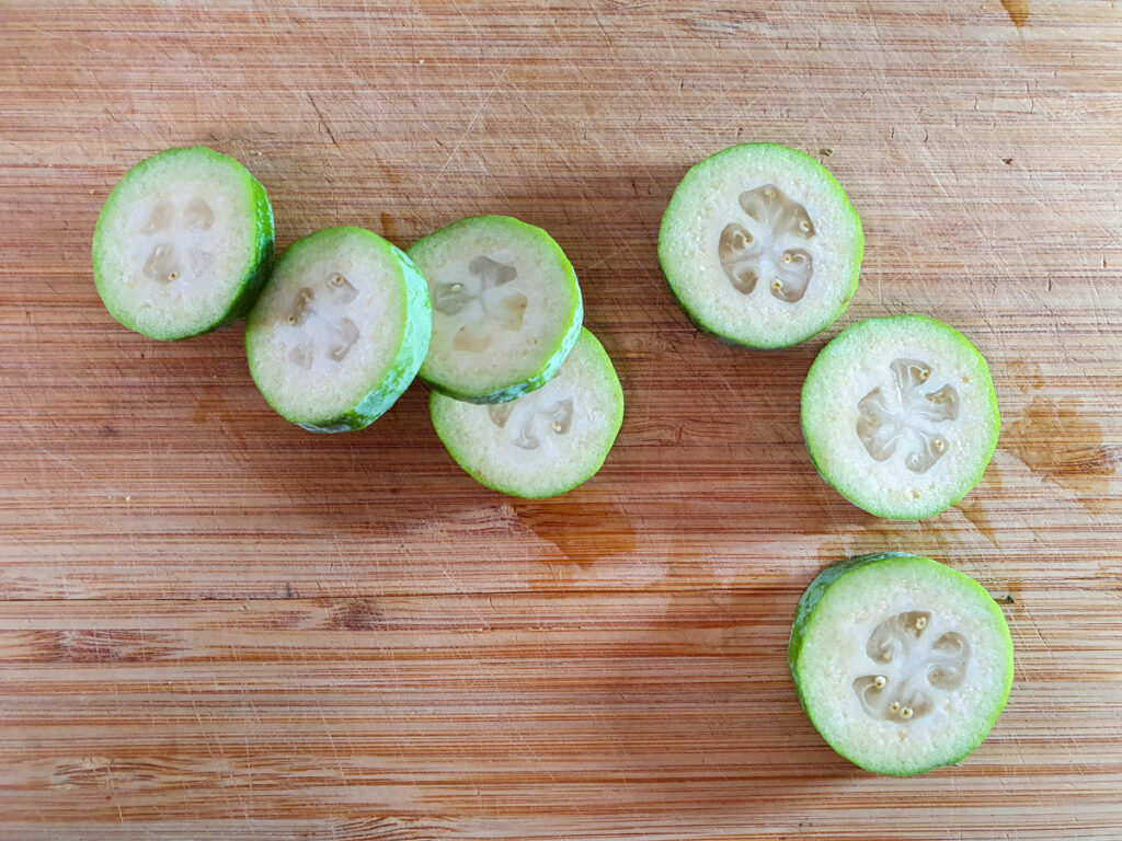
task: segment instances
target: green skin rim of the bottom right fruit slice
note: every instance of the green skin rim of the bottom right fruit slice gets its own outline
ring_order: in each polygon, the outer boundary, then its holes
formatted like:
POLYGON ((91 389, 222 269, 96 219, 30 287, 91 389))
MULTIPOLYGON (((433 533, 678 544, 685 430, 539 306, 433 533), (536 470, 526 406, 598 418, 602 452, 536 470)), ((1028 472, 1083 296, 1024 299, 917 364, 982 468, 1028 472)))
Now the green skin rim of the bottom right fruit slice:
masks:
MULTIPOLYGON (((855 570, 859 570, 864 566, 870 566, 872 564, 891 563, 900 558, 922 561, 929 564, 938 563, 937 561, 932 561, 929 557, 923 557, 921 555, 911 555, 908 554, 907 552, 881 552, 870 555, 857 555, 856 557, 850 557, 847 561, 834 564, 834 566, 827 567, 826 570, 824 570, 821 573, 818 574, 818 577, 816 577, 812 582, 810 582, 810 586, 807 588, 807 591, 802 594, 802 598, 799 599, 799 607, 795 610, 794 621, 791 623, 791 639, 787 647, 787 663, 788 667, 791 671, 791 680, 794 682, 795 692, 799 695, 799 705, 802 706, 802 711, 807 714, 807 718, 810 719, 810 723, 815 726, 815 729, 822 737, 822 739, 825 739, 826 742, 834 749, 834 751, 844 759, 849 759, 849 757, 843 754, 839 747, 834 742, 831 742, 826 737, 826 733, 822 732, 822 728, 820 728, 818 726, 818 722, 815 721, 815 713, 804 703, 802 696, 802 686, 800 685, 799 682, 799 672, 798 672, 799 655, 802 651, 802 643, 807 638, 810 628, 813 625, 815 608, 818 607, 818 603, 822 600, 822 597, 826 595, 826 591, 829 590, 830 585, 834 584, 834 582, 836 582, 843 575, 846 575, 855 570)), ((990 593, 986 592, 985 588, 983 588, 978 582, 976 582, 969 575, 963 575, 963 573, 958 572, 957 570, 954 570, 953 567, 946 566, 945 564, 939 564, 939 565, 945 566, 946 570, 950 571, 955 575, 962 576, 963 579, 968 581, 969 585, 976 589, 978 593, 985 595, 986 602, 990 604, 991 611, 1001 617, 1001 625, 1006 629, 1003 638, 1005 644, 1003 659, 1005 659, 1009 663, 1012 663, 1013 639, 1009 634, 1009 626, 1005 622, 1004 614, 1001 612, 1001 608, 993 600, 990 593)), ((965 750, 963 750, 962 754, 959 754, 954 759, 908 773, 901 773, 898 770, 886 770, 883 768, 877 768, 872 765, 858 765, 857 767, 863 768, 873 774, 880 774, 886 777, 916 777, 921 774, 927 774, 928 771, 931 771, 936 768, 941 768, 945 765, 954 765, 955 763, 960 763, 969 754, 974 752, 983 741, 985 741, 985 738, 990 734, 990 730, 993 728, 993 724, 997 720, 997 717, 1001 714, 1002 710, 1005 709, 1005 703, 1009 701, 1009 693, 1012 690, 1012 687, 1013 687, 1013 669, 1010 668, 1009 677, 1005 681, 1005 685, 1002 687, 1001 703, 994 711, 993 717, 986 723, 985 729, 982 730, 981 738, 978 738, 978 740, 973 745, 968 746, 965 750)), ((849 761, 853 760, 849 759, 849 761)), ((854 765, 857 765, 857 763, 854 763, 854 765)))

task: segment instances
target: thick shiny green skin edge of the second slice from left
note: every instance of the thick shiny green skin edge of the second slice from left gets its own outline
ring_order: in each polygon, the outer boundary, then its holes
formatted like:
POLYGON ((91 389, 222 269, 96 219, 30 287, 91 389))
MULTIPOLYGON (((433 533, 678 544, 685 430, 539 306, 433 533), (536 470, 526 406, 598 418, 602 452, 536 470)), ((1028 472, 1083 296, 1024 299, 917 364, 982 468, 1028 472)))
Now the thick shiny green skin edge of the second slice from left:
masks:
MULTIPOLYGON (((366 397, 357 406, 334 417, 315 420, 291 417, 278 406, 269 401, 268 396, 263 392, 266 401, 269 403, 269 406, 280 417, 291 420, 302 429, 316 433, 355 432, 369 426, 381 417, 416 378, 417 370, 421 368, 421 363, 429 352, 429 340, 432 338, 432 304, 429 299, 429 285, 404 251, 373 231, 356 227, 325 228, 315 231, 288 246, 277 260, 277 266, 280 266, 289 253, 295 255, 309 244, 314 244, 314 239, 322 234, 337 232, 361 234, 378 248, 390 249, 394 257, 397 258, 402 268, 402 283, 405 284, 405 331, 402 334, 402 344, 397 350, 397 355, 394 357, 394 362, 385 376, 367 392, 366 397)), ((247 326, 247 354, 251 331, 252 327, 247 326)))

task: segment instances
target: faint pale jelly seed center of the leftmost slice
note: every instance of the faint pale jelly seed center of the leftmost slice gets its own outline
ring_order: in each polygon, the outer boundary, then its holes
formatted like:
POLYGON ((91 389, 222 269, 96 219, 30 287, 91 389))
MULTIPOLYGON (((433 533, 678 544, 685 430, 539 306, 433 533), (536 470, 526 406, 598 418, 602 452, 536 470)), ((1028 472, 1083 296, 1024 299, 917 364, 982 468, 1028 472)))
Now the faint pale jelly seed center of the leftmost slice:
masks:
POLYGON ((202 277, 214 262, 213 225, 214 210, 205 198, 157 201, 137 231, 144 241, 144 277, 160 284, 202 277))

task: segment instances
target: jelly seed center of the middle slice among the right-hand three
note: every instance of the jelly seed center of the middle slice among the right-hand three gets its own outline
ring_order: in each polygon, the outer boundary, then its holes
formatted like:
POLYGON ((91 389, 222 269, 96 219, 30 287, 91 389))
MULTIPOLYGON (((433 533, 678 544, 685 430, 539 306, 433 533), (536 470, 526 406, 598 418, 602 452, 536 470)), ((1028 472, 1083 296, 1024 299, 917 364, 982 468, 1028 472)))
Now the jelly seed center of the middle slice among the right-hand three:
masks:
POLYGON ((889 367, 893 387, 877 386, 857 404, 857 437, 876 461, 901 449, 904 465, 926 473, 950 449, 940 425, 958 417, 958 392, 950 385, 929 386, 927 362, 895 359, 889 367))

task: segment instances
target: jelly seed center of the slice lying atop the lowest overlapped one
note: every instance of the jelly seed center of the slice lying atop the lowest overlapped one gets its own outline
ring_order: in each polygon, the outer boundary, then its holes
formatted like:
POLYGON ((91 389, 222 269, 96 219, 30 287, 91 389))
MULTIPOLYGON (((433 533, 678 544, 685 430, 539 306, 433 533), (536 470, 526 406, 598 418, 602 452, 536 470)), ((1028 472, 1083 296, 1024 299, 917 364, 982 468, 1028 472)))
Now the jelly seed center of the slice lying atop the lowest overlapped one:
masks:
POLYGON ((484 353, 495 341, 497 331, 517 333, 530 299, 507 286, 518 277, 518 270, 486 255, 468 262, 466 281, 433 284, 432 307, 457 317, 459 330, 452 348, 469 353, 484 353))

